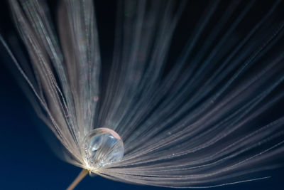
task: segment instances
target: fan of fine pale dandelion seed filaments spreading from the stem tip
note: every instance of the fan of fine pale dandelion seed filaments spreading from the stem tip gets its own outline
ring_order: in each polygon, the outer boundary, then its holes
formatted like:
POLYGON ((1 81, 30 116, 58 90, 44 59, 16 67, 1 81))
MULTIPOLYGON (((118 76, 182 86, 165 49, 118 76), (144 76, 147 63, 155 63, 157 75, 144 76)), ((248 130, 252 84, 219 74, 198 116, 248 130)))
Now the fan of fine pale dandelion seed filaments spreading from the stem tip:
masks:
POLYGON ((106 60, 91 0, 9 0, 28 62, 0 36, 80 179, 204 188, 283 166, 283 1, 114 4, 106 60), (104 153, 86 153, 93 133, 104 153))

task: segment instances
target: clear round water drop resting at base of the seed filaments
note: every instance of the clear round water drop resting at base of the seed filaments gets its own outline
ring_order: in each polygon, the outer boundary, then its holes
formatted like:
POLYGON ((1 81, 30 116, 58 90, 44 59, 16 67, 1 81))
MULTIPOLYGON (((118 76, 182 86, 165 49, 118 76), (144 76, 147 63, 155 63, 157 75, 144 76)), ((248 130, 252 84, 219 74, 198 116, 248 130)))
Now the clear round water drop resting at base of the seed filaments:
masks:
POLYGON ((84 154, 90 167, 101 168, 124 157, 124 142, 108 128, 97 128, 84 137, 84 154))

